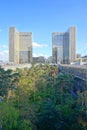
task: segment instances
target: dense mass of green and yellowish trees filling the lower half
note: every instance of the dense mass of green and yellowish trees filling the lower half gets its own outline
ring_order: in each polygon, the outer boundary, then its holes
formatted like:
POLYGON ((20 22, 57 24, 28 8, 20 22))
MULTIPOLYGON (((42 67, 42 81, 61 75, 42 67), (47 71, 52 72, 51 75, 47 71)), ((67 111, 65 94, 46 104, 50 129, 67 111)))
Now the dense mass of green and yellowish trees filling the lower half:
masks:
POLYGON ((74 78, 57 66, 0 68, 0 125, 3 130, 86 130, 86 91, 72 95, 74 78))

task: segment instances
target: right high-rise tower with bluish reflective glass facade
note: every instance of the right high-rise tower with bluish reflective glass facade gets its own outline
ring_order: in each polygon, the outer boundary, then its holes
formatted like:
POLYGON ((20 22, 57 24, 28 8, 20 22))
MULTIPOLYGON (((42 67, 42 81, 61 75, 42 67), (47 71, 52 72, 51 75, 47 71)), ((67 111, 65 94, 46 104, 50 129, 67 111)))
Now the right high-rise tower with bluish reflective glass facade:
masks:
POLYGON ((52 33, 52 57, 54 63, 65 63, 76 59, 76 29, 70 27, 67 32, 52 33))

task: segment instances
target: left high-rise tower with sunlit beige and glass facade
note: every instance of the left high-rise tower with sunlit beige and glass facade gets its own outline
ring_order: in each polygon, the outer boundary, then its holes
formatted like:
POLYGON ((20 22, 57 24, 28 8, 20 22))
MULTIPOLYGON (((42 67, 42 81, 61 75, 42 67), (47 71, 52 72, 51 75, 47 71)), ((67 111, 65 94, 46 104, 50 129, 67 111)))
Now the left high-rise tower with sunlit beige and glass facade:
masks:
POLYGON ((32 33, 9 28, 9 61, 17 64, 32 62, 32 33))

